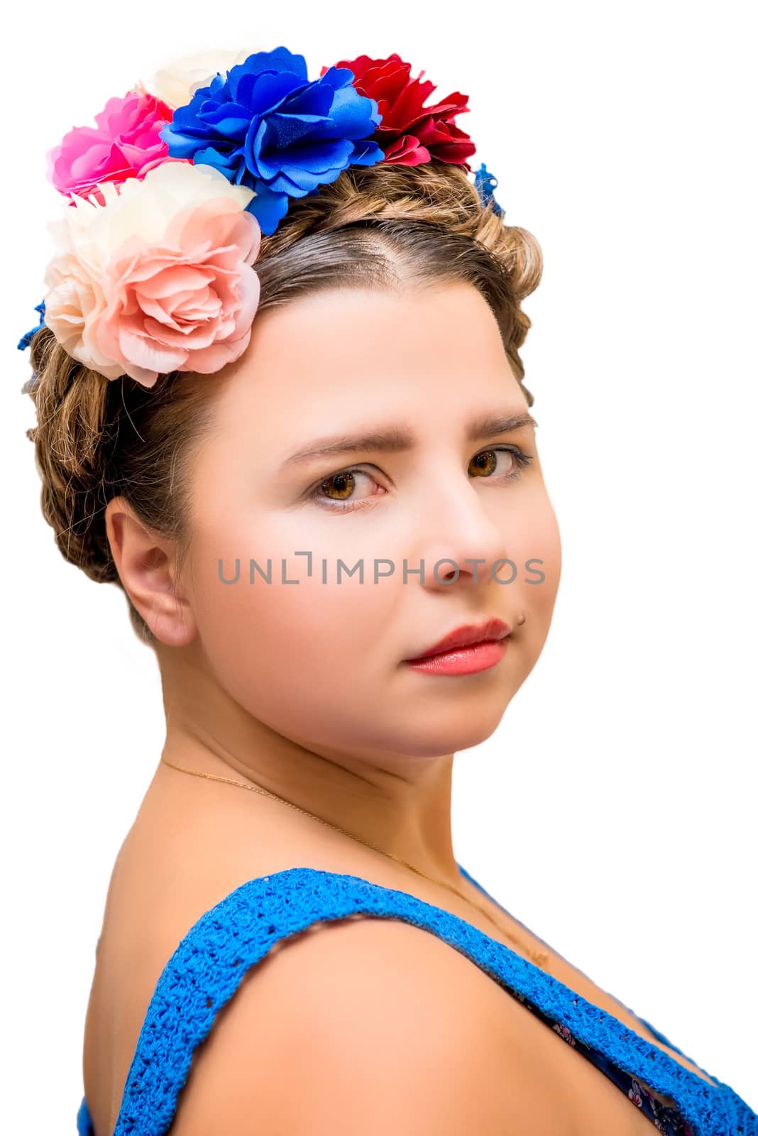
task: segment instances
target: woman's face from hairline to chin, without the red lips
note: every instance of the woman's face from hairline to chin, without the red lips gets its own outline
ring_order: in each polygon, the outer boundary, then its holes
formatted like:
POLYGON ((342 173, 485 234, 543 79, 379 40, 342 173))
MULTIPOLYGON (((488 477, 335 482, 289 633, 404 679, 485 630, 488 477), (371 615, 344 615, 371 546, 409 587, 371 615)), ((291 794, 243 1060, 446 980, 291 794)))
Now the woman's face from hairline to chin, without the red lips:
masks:
POLYGON ((545 643, 561 544, 533 427, 469 428, 527 414, 468 284, 262 312, 193 471, 191 607, 218 683, 325 755, 437 757, 488 737, 545 643), (367 434, 387 444, 293 457, 367 434), (512 634, 488 669, 405 661, 492 617, 512 634))

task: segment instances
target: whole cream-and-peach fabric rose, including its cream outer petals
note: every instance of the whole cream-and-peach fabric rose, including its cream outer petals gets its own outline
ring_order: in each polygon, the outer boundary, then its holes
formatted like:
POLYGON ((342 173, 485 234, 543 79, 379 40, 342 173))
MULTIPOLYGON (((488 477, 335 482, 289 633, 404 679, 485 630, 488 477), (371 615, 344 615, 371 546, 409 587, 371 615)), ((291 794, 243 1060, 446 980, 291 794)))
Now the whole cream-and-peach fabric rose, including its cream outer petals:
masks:
POLYGON ((50 226, 45 324, 68 353, 145 387, 171 370, 209 374, 247 346, 260 299, 253 193, 219 170, 166 162, 104 203, 73 197, 50 226))

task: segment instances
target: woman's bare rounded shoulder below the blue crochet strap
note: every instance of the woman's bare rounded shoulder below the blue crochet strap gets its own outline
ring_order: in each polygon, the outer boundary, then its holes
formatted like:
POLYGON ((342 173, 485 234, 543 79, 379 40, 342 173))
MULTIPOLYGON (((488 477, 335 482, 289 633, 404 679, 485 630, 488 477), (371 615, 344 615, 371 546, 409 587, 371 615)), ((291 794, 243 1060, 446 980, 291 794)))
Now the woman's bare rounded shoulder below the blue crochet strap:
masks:
POLYGON ((513 1136, 561 1130, 520 1013, 531 1018, 404 920, 314 924, 278 943, 219 1011, 170 1136, 500 1136, 505 1116, 513 1136))

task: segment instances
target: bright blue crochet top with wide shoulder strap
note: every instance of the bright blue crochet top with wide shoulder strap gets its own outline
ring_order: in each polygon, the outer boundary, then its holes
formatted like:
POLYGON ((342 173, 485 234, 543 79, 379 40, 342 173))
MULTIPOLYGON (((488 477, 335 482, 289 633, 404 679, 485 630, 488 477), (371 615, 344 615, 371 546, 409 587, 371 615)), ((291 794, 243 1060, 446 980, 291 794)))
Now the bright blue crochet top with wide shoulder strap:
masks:
MULTIPOLYGON (((497 903, 458 867, 466 879, 497 903)), ((354 913, 403 919, 461 951, 598 1066, 666 1136, 758 1136, 758 1116, 728 1085, 708 1074, 715 1087, 709 1085, 613 1014, 465 919, 406 892, 314 868, 289 868, 251 879, 191 927, 158 979, 112 1136, 163 1136, 175 1116, 194 1050, 246 971, 278 939, 320 920, 354 913), (646 1086, 672 1099, 676 1106, 664 1105, 646 1086)), ((547 943, 544 945, 553 951, 547 943)), ((687 1056, 648 1021, 635 1017, 654 1037, 687 1056)), ((82 1100, 76 1124, 78 1136, 111 1136, 95 1134, 86 1099, 82 1100)))

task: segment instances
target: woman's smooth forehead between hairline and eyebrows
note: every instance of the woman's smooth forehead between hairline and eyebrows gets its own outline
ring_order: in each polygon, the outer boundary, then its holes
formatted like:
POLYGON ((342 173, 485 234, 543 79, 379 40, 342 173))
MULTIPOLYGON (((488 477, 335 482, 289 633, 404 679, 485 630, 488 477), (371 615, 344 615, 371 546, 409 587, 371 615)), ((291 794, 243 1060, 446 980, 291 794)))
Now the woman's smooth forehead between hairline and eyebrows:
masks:
POLYGON ((227 436, 251 429, 292 449, 359 419, 470 418, 524 407, 483 296, 468 284, 398 294, 330 289, 253 320, 218 408, 227 436))

